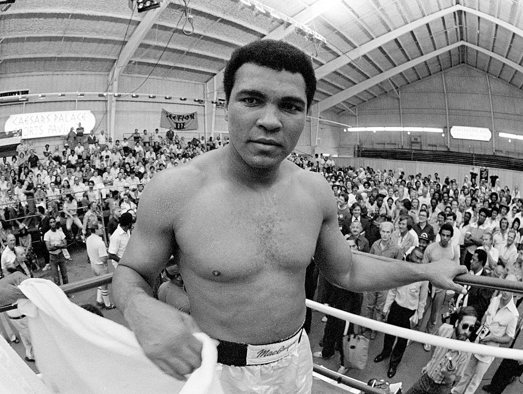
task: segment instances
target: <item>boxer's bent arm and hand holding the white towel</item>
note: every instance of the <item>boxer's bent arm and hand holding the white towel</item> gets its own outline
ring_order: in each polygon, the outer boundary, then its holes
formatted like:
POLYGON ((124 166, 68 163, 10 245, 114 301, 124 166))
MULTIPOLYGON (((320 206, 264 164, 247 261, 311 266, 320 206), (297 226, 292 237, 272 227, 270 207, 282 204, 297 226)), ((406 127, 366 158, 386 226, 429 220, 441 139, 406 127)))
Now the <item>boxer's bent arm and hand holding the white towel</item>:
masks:
POLYGON ((201 364, 201 342, 192 335, 200 330, 189 315, 154 299, 151 288, 176 254, 171 213, 183 190, 177 179, 173 171, 164 170, 145 188, 137 224, 112 283, 115 303, 147 357, 165 373, 184 379, 201 364), (168 187, 174 184, 177 192, 168 187))

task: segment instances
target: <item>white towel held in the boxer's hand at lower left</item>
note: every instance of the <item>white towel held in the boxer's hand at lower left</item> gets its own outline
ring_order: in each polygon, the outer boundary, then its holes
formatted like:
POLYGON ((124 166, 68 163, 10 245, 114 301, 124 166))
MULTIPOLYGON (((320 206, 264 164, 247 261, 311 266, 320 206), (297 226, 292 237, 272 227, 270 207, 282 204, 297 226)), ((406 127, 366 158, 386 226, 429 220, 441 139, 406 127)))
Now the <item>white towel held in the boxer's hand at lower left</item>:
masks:
MULTIPOLYGON (((29 299, 18 310, 29 317, 38 369, 47 387, 59 393, 213 392, 215 342, 203 344, 202 364, 187 382, 162 372, 147 358, 132 331, 70 302, 53 282, 27 279, 19 285, 29 299)), ((0 391, 3 391, 0 387, 0 391)))

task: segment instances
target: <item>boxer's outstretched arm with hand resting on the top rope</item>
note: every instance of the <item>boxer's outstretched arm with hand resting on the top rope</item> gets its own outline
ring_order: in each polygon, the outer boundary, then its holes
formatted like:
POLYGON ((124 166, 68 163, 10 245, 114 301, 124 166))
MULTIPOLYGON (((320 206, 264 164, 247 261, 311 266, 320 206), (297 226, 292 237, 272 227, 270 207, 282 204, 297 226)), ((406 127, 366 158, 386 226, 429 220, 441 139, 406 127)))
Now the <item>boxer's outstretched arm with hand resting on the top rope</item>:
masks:
MULTIPOLYGON (((314 176, 314 175, 313 175, 314 176)), ((323 211, 323 223, 314 258, 326 279, 354 292, 378 291, 418 281, 430 281, 440 288, 465 292, 452 282, 454 276, 467 272, 464 266, 440 260, 431 264, 412 264, 367 253, 352 252, 337 222, 336 201, 324 179, 315 177, 314 190, 323 211)))

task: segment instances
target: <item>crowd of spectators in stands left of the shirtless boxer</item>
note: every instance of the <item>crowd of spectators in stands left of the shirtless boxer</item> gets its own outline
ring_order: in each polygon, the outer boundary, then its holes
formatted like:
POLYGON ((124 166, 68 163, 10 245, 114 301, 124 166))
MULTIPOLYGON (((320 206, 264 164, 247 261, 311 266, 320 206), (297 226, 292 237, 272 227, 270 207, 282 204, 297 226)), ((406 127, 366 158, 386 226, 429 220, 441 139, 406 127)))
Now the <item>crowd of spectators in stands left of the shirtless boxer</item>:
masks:
POLYGON ((186 141, 172 130, 161 134, 158 129, 151 134, 135 129, 129 138, 113 142, 104 131, 81 136, 72 128, 62 145, 51 149, 47 144, 38 153, 32 141, 21 141, 16 155, 0 159, 0 253, 14 234, 28 251, 31 268, 41 268, 39 258, 48 262, 46 217, 58 222, 68 242, 85 240, 87 227, 98 221, 110 236, 121 214, 129 212, 135 219, 144 186, 157 171, 221 146, 219 136, 186 141))

